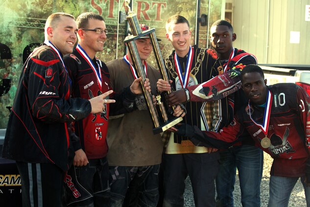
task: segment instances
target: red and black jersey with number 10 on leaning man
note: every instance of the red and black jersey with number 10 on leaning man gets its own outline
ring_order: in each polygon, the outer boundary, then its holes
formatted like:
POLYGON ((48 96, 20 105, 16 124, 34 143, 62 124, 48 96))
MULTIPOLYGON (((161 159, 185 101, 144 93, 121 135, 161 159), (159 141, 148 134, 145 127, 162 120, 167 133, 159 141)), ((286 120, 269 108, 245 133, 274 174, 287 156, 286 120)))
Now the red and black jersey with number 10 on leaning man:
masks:
POLYGON ((274 158, 271 175, 310 175, 310 98, 303 88, 294 83, 278 83, 268 86, 268 89, 270 97, 264 107, 249 103, 238 110, 234 121, 220 133, 204 132, 205 137, 202 138, 203 134, 196 129, 194 137, 224 149, 241 141, 244 137, 240 134, 247 130, 256 145, 274 158), (265 110, 268 104, 271 106, 269 116, 268 110, 265 110), (270 139, 270 145, 266 148, 261 143, 265 137, 270 139))

